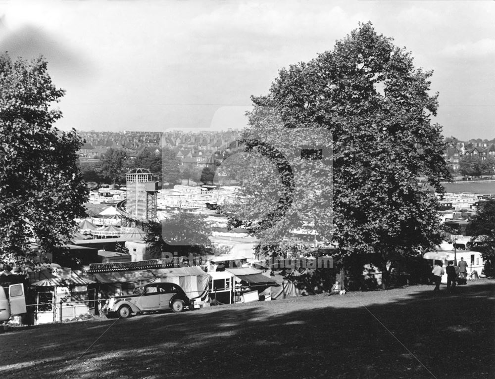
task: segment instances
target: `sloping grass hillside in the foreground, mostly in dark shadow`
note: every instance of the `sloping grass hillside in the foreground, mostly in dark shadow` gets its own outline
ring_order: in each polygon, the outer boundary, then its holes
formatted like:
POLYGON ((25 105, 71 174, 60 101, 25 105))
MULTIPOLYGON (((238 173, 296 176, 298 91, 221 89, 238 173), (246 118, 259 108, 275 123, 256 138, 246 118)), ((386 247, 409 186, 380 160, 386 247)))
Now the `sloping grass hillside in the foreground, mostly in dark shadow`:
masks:
POLYGON ((495 377, 495 282, 459 286, 455 293, 444 287, 439 296, 432 288, 5 333, 0 377, 495 377))

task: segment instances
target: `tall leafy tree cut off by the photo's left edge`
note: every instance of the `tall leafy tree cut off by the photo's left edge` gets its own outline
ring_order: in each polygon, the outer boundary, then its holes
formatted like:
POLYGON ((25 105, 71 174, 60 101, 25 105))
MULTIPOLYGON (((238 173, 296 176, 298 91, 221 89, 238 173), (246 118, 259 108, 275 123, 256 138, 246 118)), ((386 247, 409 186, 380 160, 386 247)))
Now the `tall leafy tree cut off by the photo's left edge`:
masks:
POLYGON ((12 61, 0 55, 0 262, 29 262, 29 243, 49 251, 84 216, 75 130, 53 127, 64 91, 51 82, 43 58, 12 61))

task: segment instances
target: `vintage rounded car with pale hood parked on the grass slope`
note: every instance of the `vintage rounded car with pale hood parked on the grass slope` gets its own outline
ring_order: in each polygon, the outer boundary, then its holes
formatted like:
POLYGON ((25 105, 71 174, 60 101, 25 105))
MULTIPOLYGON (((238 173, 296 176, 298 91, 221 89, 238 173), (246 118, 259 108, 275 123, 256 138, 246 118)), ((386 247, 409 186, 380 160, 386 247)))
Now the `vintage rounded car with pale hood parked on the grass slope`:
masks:
POLYGON ((194 308, 194 300, 174 283, 150 283, 136 287, 132 295, 115 296, 107 300, 103 312, 107 318, 126 319, 132 314, 172 309, 182 312, 185 307, 194 308))

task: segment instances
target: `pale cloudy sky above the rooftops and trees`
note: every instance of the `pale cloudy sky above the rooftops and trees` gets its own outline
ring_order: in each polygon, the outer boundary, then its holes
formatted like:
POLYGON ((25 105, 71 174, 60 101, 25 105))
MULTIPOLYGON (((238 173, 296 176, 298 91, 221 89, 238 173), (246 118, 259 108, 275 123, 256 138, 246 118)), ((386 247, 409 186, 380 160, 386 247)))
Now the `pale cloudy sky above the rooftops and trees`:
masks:
POLYGON ((434 70, 445 136, 491 140, 494 20, 488 0, 0 0, 0 51, 46 57, 62 130, 225 130, 281 68, 371 21, 434 70))

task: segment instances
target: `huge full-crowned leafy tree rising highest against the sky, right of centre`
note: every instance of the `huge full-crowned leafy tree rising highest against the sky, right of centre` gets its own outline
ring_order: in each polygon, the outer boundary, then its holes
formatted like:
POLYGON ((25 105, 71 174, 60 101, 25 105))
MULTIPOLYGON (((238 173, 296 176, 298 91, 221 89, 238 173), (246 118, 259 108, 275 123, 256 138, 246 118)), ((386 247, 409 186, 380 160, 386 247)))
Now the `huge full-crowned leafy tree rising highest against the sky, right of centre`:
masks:
POLYGON ((274 230, 283 241, 291 230, 312 228, 338 242, 343 258, 369 254, 385 286, 396 260, 439 242, 438 200, 417 179, 426 177, 442 193, 441 180, 450 178, 442 128, 431 123, 438 107, 438 95, 429 94, 431 75, 371 23, 333 50, 282 69, 268 95, 252 97, 244 139, 247 150, 268 159, 262 170, 251 168, 237 216, 262 242, 273 241, 274 230), (308 164, 321 157, 308 159, 300 147, 330 145, 333 200, 325 193, 331 170, 308 164), (260 173, 269 175, 259 179, 260 173), (274 195, 275 208, 267 207, 264 199, 274 195))

